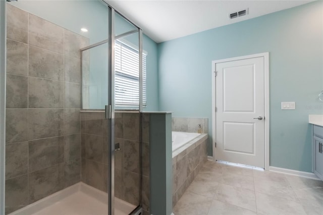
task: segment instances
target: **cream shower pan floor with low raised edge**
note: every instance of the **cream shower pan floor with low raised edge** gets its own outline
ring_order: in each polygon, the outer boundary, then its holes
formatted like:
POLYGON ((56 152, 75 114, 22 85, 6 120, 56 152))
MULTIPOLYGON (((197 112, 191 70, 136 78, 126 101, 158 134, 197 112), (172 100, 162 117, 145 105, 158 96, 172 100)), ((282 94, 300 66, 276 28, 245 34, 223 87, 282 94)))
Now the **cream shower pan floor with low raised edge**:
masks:
MULTIPOLYGON (((101 215, 107 214, 107 200, 107 193, 79 182, 9 215, 101 215)), ((135 205, 115 198, 115 214, 127 215, 135 208, 135 205)))

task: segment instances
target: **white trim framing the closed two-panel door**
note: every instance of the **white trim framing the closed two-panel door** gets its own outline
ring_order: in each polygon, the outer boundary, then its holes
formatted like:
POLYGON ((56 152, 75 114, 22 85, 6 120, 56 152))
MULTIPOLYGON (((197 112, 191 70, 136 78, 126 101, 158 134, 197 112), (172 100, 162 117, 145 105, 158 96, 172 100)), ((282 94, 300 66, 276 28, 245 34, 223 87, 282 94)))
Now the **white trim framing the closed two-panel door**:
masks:
POLYGON ((269 170, 269 125, 270 125, 270 116, 269 116, 269 52, 257 53, 255 55, 241 56, 236 58, 228 58, 222 60, 212 61, 212 154, 213 161, 216 161, 216 64, 229 62, 229 61, 238 61, 245 60, 250 58, 264 58, 264 169, 269 170))

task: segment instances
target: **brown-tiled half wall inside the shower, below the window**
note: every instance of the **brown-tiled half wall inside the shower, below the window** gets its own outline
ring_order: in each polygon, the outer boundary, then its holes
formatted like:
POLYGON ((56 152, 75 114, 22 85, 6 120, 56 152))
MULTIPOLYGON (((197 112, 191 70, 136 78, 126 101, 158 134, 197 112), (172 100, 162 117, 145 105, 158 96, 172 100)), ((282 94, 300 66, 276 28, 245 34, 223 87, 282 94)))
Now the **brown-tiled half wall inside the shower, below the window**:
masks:
MULTIPOLYGON (((142 114, 142 207, 149 214, 149 114, 142 114)), ((82 111, 82 181, 107 192, 108 129, 104 112, 82 111)), ((115 196, 134 205, 139 199, 139 114, 115 113, 115 196)))

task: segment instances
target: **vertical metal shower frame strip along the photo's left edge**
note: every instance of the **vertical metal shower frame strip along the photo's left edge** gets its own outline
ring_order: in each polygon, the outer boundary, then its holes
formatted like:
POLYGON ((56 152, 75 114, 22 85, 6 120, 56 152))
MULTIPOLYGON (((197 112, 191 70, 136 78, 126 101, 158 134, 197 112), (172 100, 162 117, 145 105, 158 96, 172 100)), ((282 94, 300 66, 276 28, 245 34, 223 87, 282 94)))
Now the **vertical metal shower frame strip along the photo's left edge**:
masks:
POLYGON ((0 1, 0 214, 5 214, 6 1, 0 1))

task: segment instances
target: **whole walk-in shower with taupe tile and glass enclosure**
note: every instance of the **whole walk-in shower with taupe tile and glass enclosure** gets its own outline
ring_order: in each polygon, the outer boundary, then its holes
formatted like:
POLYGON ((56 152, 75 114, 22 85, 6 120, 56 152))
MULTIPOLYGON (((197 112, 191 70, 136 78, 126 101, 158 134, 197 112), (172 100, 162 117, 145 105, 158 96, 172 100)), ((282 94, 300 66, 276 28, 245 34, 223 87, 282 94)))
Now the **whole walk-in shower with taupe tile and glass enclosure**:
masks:
POLYGON ((99 0, 4 6, 0 214, 139 214, 141 29, 99 0))

